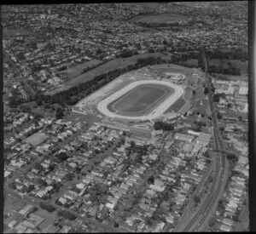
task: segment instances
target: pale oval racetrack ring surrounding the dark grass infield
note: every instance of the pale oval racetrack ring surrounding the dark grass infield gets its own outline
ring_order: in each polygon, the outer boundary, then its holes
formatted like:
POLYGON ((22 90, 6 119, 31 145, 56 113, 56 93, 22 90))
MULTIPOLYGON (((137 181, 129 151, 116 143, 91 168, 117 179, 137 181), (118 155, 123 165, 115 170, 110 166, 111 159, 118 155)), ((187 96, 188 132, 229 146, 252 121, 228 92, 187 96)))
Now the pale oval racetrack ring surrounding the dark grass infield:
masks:
POLYGON ((106 99, 104 99, 98 103, 97 108, 99 111, 101 111, 104 115, 106 115, 108 117, 131 119, 131 120, 135 120, 135 119, 136 120, 137 119, 151 120, 156 117, 160 117, 164 113, 164 111, 166 111, 166 109, 168 109, 170 106, 172 106, 172 104, 182 95, 183 95, 183 88, 178 85, 175 85, 173 83, 169 83, 166 81, 157 81, 157 80, 143 80, 143 81, 137 81, 137 82, 130 83, 129 85, 125 86, 125 88, 121 88, 121 89, 119 89, 119 91, 109 95, 106 99), (165 100, 163 100, 163 102, 160 103, 159 106, 156 106, 153 111, 150 111, 148 114, 145 114, 145 115, 136 116, 136 117, 135 116, 127 116, 127 115, 124 116, 124 115, 119 115, 119 114, 116 114, 116 113, 108 110, 108 105, 110 103, 112 103, 114 100, 119 99, 119 97, 123 96, 124 94, 131 91, 131 89, 136 88, 139 85, 149 84, 149 83, 150 84, 152 83, 152 84, 166 85, 166 86, 173 88, 175 91, 173 94, 171 94, 165 100))

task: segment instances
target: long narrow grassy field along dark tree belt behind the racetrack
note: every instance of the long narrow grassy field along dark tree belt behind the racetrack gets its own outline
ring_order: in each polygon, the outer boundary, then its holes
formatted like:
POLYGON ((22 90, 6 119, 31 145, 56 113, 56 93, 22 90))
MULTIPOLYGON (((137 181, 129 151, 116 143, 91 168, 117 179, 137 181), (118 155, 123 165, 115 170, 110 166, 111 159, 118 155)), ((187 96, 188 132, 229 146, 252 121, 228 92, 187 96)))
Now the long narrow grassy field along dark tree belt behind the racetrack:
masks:
POLYGON ((159 52, 157 53, 152 53, 152 54, 137 54, 133 55, 129 58, 119 58, 115 60, 110 60, 105 64, 102 64, 100 66, 97 66, 95 69, 92 69, 88 72, 85 72, 84 74, 79 75, 78 77, 75 77, 71 80, 68 80, 66 83, 64 83, 65 86, 67 87, 73 87, 75 85, 78 85, 79 83, 85 83, 90 80, 92 80, 94 77, 98 75, 102 75, 104 73, 108 73, 108 71, 113 71, 116 69, 124 68, 129 65, 133 65, 137 63, 137 59, 144 59, 148 57, 166 57, 165 54, 161 54, 159 52))

